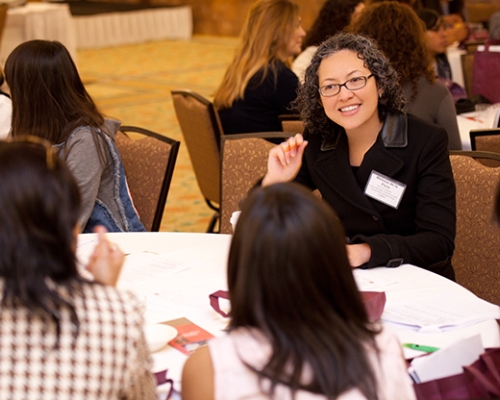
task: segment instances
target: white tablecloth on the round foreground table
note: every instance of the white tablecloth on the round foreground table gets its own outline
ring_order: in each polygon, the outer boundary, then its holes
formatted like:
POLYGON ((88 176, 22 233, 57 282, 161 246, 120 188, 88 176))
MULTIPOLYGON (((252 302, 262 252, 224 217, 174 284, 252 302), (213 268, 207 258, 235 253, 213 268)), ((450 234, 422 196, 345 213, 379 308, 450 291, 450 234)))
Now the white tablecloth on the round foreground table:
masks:
MULTIPOLYGON (((115 233, 109 234, 109 237, 127 254, 118 286, 134 290, 145 300, 145 315, 149 323, 186 317, 215 336, 223 334, 227 319, 210 307, 208 296, 227 288, 226 262, 231 235, 160 232, 115 233)), ((94 245, 95 235, 79 236, 78 255, 83 262, 94 245)), ((458 284, 411 265, 360 270, 358 273, 364 277, 363 290, 386 292, 386 310, 408 300, 424 301, 436 294, 459 294, 472 302, 479 301, 458 284)), ((487 306, 492 307, 489 303, 487 306)), ((436 308, 439 306, 436 305, 436 308)), ((391 327, 402 342, 440 347, 472 334, 480 334, 484 346, 500 346, 498 325, 494 319, 446 332, 423 333, 391 327)), ((186 356, 167 345, 154 353, 153 358, 154 371, 168 368, 168 376, 174 379, 179 389, 186 356)))

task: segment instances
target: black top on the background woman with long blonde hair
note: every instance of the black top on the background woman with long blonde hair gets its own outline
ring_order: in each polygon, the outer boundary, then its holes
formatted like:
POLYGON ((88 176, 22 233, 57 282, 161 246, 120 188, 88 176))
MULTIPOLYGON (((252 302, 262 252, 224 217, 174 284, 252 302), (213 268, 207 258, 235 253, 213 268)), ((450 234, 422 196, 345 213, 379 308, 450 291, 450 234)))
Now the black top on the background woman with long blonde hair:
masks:
POLYGON ((257 72, 248 82, 244 99, 219 110, 224 134, 281 131, 278 115, 291 114, 290 103, 297 97, 299 80, 283 62, 274 62, 276 73, 257 72))

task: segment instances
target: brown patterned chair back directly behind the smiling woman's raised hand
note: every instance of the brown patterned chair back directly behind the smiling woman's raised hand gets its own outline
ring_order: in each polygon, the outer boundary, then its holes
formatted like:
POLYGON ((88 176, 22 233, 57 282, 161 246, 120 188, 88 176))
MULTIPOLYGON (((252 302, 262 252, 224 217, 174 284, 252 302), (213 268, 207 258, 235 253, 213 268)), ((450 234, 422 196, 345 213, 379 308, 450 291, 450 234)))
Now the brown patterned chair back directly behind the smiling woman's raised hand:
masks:
POLYGON ((286 139, 285 132, 258 132, 222 137, 220 232, 232 233, 231 215, 240 201, 266 174, 269 150, 276 146, 266 139, 286 139))

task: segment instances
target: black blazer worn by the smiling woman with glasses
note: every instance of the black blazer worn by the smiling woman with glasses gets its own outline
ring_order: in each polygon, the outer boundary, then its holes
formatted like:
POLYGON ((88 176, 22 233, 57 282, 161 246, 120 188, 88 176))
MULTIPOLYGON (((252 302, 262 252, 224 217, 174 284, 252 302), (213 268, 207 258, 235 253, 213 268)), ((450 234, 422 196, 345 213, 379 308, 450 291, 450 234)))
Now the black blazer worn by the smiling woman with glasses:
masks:
POLYGON ((455 182, 444 129, 410 114, 389 115, 357 169, 350 166, 343 130, 330 142, 305 136, 309 144, 296 181, 319 189, 348 242, 370 245, 364 268, 410 263, 454 279, 455 182), (372 170, 406 185, 397 209, 364 194, 372 170))

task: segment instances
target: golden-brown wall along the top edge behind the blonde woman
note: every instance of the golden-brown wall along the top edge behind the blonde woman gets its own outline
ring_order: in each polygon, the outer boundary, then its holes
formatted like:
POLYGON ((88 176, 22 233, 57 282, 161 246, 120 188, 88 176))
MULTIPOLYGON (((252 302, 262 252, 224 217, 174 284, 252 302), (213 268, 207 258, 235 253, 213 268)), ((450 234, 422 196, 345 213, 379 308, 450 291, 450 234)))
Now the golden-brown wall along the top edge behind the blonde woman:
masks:
MULTIPOLYGON (((141 0, 125 1, 133 3, 141 0)), ((300 4, 303 26, 307 30, 325 0, 295 1, 300 4)), ((142 0, 142 2, 158 5, 189 4, 193 9, 194 33, 237 36, 253 0, 142 0)))

